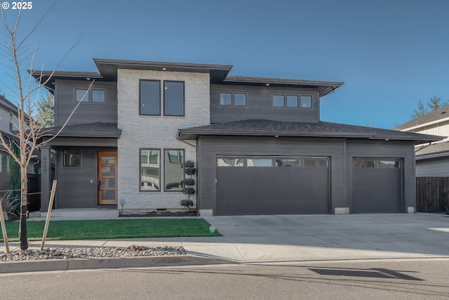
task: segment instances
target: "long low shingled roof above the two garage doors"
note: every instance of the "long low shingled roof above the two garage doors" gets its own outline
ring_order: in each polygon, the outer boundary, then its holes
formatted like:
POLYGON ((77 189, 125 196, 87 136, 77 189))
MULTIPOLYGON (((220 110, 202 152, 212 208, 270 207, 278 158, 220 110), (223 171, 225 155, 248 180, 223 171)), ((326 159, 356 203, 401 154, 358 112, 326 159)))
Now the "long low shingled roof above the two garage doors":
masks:
POLYGON ((330 122, 301 123, 279 122, 267 119, 210 124, 206 126, 178 129, 177 138, 194 140, 198 136, 292 136, 322 138, 355 138, 383 141, 414 141, 430 143, 443 140, 443 136, 377 129, 330 122))

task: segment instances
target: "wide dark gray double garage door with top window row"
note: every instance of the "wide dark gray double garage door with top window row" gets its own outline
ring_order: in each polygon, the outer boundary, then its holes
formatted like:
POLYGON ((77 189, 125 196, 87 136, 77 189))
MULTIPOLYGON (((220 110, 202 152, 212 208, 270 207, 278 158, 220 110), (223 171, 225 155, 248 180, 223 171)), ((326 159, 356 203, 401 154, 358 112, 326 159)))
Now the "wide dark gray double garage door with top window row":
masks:
POLYGON ((217 157, 216 214, 328 214, 328 157, 217 157))

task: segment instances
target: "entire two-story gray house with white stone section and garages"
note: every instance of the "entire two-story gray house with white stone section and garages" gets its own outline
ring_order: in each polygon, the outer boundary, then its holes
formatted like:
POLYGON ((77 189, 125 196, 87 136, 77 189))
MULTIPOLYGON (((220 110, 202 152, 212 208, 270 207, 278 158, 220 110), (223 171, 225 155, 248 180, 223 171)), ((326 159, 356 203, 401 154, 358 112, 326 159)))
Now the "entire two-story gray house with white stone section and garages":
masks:
MULTIPOLYGON (((41 148, 42 190, 50 190, 50 150, 57 153, 57 208, 116 208, 123 199, 128 213, 182 209, 182 167, 192 160, 203 216, 413 212, 415 144, 441 140, 321 122, 320 98, 342 82, 94 61, 99 72, 55 72, 46 86, 55 96, 48 136, 88 95, 41 148)), ((41 205, 46 211, 48 200, 41 205)))

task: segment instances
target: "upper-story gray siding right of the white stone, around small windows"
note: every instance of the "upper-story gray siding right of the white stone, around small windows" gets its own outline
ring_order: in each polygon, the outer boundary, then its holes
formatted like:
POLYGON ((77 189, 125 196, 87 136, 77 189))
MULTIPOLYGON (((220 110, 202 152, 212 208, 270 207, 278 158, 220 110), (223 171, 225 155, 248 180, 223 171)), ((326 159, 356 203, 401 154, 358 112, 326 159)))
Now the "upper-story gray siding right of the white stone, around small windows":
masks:
POLYGON ((284 122, 319 122, 319 95, 316 89, 272 86, 210 85, 210 123, 243 119, 271 119, 284 122), (246 106, 220 105, 220 93, 246 93, 246 106), (272 107, 272 95, 312 96, 312 107, 272 107))

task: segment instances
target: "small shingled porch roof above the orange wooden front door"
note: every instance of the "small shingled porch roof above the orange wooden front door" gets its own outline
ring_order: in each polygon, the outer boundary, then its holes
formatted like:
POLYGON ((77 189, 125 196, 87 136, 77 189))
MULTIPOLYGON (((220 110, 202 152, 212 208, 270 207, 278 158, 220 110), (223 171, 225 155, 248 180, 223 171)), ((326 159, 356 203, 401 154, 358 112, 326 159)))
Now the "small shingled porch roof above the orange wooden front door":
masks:
MULTIPOLYGON (((54 136, 60 131, 61 126, 43 129, 44 136, 54 136)), ((65 137, 98 137, 98 138, 119 138, 121 130, 117 129, 116 123, 90 123, 68 125, 62 129, 58 136, 65 137)))

